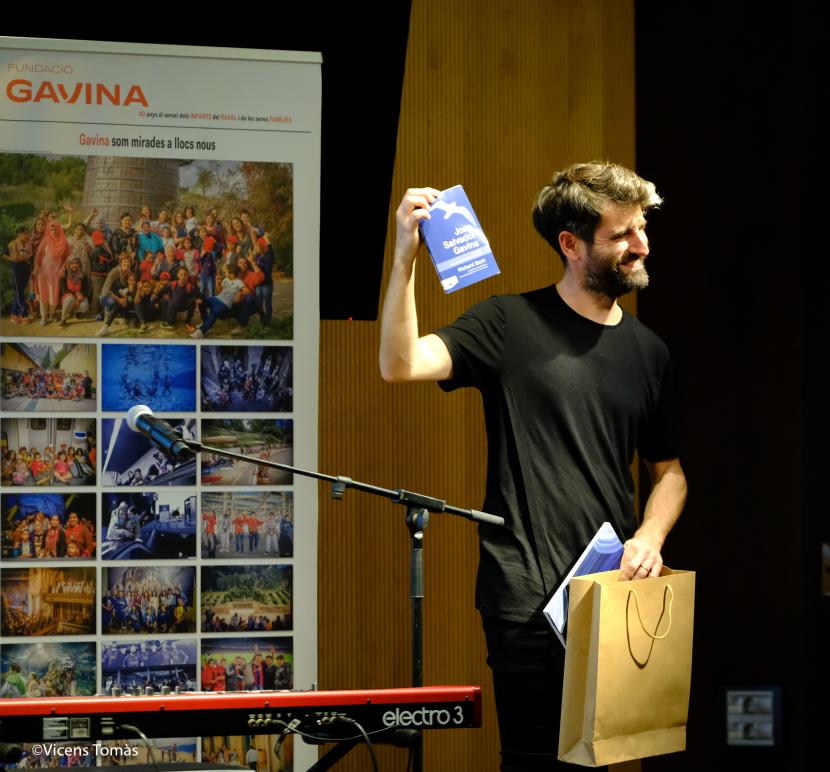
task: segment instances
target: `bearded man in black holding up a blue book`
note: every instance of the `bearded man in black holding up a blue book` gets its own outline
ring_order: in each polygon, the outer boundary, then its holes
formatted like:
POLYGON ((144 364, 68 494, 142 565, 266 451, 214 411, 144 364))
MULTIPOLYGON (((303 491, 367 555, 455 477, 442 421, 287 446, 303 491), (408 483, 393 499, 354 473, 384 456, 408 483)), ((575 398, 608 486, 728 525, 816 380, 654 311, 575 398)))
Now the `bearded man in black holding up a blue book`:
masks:
MULTIPOLYGON (((617 164, 575 164, 538 194, 533 224, 561 257, 556 284, 492 297, 419 337, 419 223, 439 191, 407 191, 381 320, 388 381, 477 388, 487 427, 476 605, 493 670, 502 772, 559 768, 564 649, 542 608, 600 525, 626 539, 622 579, 657 576, 686 482, 665 344, 617 299, 648 284, 645 214, 654 185, 617 164), (630 467, 652 489, 642 522, 630 467)), ((625 706, 620 706, 625 710, 625 706)), ((564 765, 561 765, 565 768, 564 765)))

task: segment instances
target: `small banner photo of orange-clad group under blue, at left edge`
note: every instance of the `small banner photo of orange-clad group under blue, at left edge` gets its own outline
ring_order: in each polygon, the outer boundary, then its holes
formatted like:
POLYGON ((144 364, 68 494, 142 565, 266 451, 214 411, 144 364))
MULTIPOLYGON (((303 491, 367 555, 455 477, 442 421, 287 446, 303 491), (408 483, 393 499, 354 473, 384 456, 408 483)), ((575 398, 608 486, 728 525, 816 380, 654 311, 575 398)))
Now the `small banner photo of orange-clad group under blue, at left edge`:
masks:
POLYGON ((94 493, 4 493, 3 560, 94 558, 94 493))

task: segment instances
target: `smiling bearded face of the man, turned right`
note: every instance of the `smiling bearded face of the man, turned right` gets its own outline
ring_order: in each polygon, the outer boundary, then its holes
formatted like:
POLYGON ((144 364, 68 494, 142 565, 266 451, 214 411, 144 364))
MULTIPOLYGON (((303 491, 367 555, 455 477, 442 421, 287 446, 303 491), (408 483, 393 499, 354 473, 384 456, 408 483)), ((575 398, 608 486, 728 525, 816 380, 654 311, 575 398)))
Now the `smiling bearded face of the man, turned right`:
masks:
POLYGON ((585 244, 583 286, 586 290, 618 298, 648 286, 645 227, 643 211, 636 204, 612 206, 603 213, 594 233, 594 243, 585 244))

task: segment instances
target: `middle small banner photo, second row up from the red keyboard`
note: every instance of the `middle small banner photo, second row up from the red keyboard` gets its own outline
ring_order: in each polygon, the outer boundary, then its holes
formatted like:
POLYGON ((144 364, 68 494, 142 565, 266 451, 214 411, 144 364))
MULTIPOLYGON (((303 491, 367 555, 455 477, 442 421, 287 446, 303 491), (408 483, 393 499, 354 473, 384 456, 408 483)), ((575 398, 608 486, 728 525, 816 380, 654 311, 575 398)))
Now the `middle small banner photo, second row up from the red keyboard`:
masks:
POLYGON ((193 567, 104 566, 102 634, 196 632, 195 586, 193 567))

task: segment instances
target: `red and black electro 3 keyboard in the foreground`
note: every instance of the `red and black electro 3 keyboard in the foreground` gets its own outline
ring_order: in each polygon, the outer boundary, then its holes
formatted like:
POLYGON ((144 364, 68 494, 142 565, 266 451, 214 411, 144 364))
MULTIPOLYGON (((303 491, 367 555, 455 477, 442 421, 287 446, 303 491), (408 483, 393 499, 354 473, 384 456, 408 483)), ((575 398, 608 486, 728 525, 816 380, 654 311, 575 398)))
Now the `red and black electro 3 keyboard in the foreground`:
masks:
POLYGON ((308 692, 187 692, 121 697, 0 699, 0 742, 279 734, 353 735, 385 729, 481 726, 477 686, 308 692))

